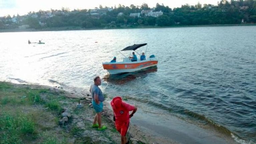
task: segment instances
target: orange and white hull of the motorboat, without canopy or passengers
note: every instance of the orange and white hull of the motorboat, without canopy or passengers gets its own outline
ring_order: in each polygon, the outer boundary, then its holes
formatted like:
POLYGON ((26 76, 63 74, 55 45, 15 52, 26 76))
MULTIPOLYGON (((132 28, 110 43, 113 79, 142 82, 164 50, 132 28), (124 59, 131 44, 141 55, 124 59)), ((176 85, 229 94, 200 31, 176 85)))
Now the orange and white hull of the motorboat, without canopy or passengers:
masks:
POLYGON ((103 68, 106 69, 109 74, 135 72, 135 71, 139 71, 149 67, 157 66, 157 64, 158 64, 158 60, 156 59, 136 61, 136 62, 130 61, 130 62, 102 63, 103 68))

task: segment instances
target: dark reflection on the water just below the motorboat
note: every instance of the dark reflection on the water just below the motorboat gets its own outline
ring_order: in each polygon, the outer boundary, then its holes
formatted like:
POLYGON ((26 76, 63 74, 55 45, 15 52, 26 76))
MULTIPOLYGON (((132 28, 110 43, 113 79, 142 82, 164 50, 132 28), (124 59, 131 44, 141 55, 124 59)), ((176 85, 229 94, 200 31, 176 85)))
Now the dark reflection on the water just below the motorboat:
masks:
POLYGON ((103 79, 108 83, 122 85, 132 80, 135 80, 138 77, 144 78, 148 73, 156 72, 157 66, 146 68, 136 72, 130 73, 121 73, 121 74, 107 74, 103 77, 103 79))

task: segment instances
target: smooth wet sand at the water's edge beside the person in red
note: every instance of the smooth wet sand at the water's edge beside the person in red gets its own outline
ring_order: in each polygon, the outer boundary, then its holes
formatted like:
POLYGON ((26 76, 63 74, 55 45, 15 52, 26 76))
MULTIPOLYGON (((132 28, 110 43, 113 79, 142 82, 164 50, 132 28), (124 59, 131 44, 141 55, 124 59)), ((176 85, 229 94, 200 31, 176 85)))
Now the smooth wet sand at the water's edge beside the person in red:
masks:
POLYGON ((199 127, 160 111, 149 112, 143 105, 131 118, 129 132, 135 139, 150 144, 238 144, 231 135, 213 127, 199 127))

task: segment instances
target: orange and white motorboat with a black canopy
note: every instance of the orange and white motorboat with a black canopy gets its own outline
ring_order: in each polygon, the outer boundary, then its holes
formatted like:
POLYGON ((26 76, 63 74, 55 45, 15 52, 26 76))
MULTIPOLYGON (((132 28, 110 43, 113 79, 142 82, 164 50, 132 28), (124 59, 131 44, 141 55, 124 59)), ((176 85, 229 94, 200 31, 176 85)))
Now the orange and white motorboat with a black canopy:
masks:
MULTIPOLYGON (((132 46, 128 46, 121 51, 135 51, 147 45, 147 43, 143 44, 134 44, 132 46)), ((138 57, 137 61, 131 61, 129 57, 124 57, 121 62, 103 62, 103 69, 107 70, 109 74, 119 74, 119 73, 127 73, 127 72, 135 72, 142 69, 146 69, 149 67, 157 66, 158 60, 155 55, 151 55, 146 60, 140 60, 138 57)))

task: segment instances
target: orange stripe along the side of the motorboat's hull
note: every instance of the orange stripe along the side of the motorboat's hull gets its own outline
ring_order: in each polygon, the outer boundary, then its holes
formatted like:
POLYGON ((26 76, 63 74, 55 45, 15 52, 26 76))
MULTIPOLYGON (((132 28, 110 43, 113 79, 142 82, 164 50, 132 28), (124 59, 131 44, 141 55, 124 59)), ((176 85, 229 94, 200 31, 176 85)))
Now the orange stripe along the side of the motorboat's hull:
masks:
POLYGON ((103 64, 104 69, 137 69, 143 68, 150 65, 157 64, 158 61, 147 61, 141 63, 126 63, 126 64, 103 64))

